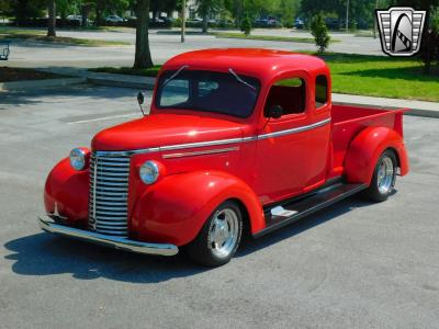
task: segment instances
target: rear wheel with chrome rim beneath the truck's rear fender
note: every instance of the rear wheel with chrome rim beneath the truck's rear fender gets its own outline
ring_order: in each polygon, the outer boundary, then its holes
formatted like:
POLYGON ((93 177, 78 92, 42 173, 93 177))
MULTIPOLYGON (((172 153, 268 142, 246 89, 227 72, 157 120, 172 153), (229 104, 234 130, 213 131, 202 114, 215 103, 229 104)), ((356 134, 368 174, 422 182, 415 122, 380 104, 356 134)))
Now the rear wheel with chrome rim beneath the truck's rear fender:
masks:
POLYGON ((397 161, 395 152, 385 150, 376 162, 372 181, 363 195, 374 202, 383 202, 392 194, 396 181, 397 161))

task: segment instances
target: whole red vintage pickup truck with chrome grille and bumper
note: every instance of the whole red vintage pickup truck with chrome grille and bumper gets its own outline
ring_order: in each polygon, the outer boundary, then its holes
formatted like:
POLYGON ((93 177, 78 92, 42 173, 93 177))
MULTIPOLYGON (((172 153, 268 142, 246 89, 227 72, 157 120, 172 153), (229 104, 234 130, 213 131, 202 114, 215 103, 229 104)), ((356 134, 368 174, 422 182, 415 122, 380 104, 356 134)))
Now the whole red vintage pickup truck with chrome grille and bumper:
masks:
POLYGON ((148 115, 98 133, 52 170, 49 232, 206 265, 361 192, 381 202, 408 171, 403 110, 334 105, 325 61, 269 49, 179 55, 148 115))

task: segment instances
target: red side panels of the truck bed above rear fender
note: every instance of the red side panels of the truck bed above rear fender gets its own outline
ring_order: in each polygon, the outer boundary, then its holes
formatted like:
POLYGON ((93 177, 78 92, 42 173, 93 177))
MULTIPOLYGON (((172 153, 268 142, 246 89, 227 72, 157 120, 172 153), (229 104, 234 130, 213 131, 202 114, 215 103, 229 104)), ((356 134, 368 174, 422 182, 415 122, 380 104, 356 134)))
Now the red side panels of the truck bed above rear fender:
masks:
POLYGON ((403 114, 405 110, 370 109, 333 104, 333 175, 344 173, 344 162, 349 144, 362 129, 387 127, 403 136, 403 114))

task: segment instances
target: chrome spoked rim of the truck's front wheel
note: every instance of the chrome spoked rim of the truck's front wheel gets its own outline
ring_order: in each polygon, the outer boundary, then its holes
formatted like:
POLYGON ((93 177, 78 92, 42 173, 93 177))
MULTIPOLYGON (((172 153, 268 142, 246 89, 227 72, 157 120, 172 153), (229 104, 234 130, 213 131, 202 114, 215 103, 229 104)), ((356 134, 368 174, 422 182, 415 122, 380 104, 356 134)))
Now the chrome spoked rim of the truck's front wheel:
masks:
POLYGON ((225 258, 234 250, 238 240, 239 223, 236 213, 222 209, 215 214, 209 235, 209 245, 215 256, 225 258))

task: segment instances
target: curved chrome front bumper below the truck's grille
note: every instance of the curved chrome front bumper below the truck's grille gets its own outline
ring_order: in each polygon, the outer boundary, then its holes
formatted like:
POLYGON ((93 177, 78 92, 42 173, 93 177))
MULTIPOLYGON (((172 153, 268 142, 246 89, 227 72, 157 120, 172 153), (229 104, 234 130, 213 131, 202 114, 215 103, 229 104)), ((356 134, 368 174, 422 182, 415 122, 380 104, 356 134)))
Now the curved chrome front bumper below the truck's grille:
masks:
POLYGON ((160 256, 175 256, 179 251, 178 247, 173 245, 134 241, 125 238, 106 236, 93 231, 59 225, 56 224, 48 216, 40 216, 38 224, 40 227, 45 231, 102 245, 114 249, 121 249, 132 252, 146 253, 146 254, 160 254, 160 256))

